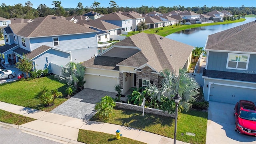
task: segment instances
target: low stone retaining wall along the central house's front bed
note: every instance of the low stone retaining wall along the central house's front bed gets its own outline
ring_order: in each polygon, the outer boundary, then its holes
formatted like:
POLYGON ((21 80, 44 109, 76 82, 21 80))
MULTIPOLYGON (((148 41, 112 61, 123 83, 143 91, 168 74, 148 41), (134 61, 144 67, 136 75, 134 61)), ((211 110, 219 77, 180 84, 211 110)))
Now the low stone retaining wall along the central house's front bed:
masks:
MULTIPOLYGON (((136 105, 133 105, 133 104, 126 104, 126 103, 122 103, 122 102, 116 102, 116 107, 143 112, 143 106, 136 106, 136 105)), ((163 112, 162 110, 158 110, 158 109, 155 109, 155 108, 145 108, 145 113, 157 114, 157 115, 161 115, 161 116, 167 116, 167 117, 175 118, 175 114, 168 114, 168 112, 163 112)))

